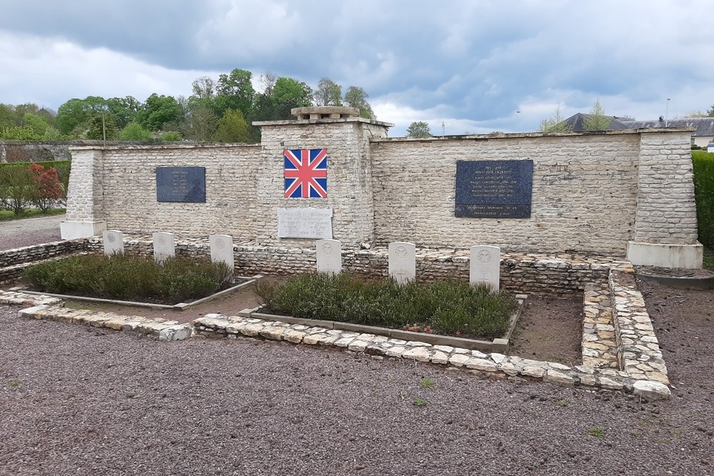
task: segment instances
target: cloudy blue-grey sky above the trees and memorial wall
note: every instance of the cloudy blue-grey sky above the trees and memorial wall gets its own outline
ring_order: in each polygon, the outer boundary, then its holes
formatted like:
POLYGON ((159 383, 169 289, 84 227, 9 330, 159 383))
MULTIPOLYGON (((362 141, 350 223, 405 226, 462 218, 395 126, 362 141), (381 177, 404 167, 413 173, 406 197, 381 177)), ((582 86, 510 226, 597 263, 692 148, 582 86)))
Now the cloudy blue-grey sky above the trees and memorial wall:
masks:
MULTIPOLYGON (((191 94, 271 72, 361 86, 403 136, 640 120, 714 103, 709 0, 0 0, 0 103, 191 94), (670 98, 670 101, 667 101, 670 98), (520 111, 520 113, 518 112, 520 111)), ((256 83, 257 85, 257 83, 256 83)))

